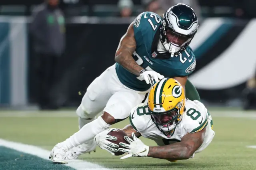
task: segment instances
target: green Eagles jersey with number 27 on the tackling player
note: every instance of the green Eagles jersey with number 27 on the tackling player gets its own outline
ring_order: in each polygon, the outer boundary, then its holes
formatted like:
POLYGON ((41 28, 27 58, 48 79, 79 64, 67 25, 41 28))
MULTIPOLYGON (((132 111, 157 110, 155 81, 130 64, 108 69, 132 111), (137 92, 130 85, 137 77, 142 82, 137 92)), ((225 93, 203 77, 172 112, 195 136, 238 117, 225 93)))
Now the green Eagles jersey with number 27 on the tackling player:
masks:
MULTIPOLYGON (((134 21, 136 49, 133 58, 138 65, 147 70, 154 70, 164 77, 182 77, 189 75, 196 67, 196 58, 190 47, 178 55, 159 53, 157 50, 162 18, 153 12, 143 12, 134 21)), ((146 91, 151 85, 130 73, 116 63, 116 73, 120 81, 130 89, 146 91)))

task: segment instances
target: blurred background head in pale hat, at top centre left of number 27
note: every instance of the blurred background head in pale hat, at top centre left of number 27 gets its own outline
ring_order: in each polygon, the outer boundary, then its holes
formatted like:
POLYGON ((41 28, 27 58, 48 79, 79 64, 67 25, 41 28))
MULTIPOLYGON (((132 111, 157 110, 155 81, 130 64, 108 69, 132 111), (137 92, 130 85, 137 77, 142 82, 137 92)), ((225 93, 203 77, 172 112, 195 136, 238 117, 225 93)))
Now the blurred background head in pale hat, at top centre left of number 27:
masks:
POLYGON ((132 0, 119 0, 118 8, 120 9, 119 16, 121 17, 130 17, 132 15, 132 0))

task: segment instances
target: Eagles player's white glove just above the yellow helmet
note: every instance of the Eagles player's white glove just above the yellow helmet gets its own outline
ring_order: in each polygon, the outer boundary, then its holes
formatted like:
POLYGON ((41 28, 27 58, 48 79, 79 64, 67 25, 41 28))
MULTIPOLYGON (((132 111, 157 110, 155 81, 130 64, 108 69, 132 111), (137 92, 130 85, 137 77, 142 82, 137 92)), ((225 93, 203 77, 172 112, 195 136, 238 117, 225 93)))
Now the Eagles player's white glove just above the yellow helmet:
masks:
POLYGON ((154 84, 154 80, 157 82, 158 80, 164 78, 163 75, 160 75, 156 71, 150 71, 146 69, 143 69, 142 71, 140 71, 140 77, 144 79, 147 84, 150 83, 151 85, 154 84))

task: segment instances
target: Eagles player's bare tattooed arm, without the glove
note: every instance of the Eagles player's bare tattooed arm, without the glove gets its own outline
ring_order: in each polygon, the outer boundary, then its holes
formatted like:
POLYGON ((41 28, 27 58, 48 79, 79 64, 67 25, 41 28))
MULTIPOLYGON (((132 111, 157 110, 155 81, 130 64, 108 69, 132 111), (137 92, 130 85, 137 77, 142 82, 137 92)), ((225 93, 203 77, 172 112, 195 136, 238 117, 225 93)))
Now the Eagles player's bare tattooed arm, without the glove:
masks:
POLYGON ((133 24, 134 22, 130 24, 127 32, 119 42, 118 48, 116 50, 115 61, 131 73, 140 76, 140 71, 142 71, 144 68, 140 67, 140 65, 138 65, 132 57, 132 54, 136 49, 133 24))

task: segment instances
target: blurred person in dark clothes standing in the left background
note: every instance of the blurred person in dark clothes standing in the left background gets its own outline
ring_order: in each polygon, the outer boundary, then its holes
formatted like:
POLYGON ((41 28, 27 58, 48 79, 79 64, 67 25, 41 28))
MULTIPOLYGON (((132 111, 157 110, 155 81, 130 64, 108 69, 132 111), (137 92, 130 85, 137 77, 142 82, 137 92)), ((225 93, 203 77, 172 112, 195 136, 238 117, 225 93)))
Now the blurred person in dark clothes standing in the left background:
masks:
POLYGON ((54 83, 57 59, 65 48, 65 20, 58 4, 59 0, 45 0, 35 8, 30 25, 40 109, 57 109, 50 100, 50 89, 54 83))

